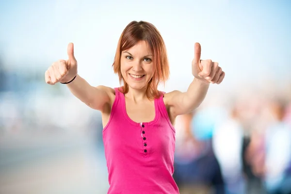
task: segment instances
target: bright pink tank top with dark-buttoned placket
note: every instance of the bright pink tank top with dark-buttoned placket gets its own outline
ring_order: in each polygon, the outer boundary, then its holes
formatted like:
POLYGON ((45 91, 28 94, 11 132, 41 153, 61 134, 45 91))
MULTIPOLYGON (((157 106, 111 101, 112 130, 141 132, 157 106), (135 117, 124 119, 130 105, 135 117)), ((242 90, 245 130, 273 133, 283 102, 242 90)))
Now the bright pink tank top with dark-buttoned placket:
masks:
POLYGON ((163 95, 155 99, 154 120, 136 123, 126 112, 124 95, 115 88, 103 142, 109 173, 108 194, 179 194, 173 178, 175 129, 163 95))

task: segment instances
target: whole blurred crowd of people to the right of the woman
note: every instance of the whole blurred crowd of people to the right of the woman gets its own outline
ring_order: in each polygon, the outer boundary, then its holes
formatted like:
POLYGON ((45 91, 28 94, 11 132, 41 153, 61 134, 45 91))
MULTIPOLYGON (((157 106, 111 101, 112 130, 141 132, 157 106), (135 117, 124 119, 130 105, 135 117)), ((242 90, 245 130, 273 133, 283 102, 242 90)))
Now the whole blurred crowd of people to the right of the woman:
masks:
POLYGON ((177 120, 181 194, 291 194, 290 96, 227 98, 177 120))

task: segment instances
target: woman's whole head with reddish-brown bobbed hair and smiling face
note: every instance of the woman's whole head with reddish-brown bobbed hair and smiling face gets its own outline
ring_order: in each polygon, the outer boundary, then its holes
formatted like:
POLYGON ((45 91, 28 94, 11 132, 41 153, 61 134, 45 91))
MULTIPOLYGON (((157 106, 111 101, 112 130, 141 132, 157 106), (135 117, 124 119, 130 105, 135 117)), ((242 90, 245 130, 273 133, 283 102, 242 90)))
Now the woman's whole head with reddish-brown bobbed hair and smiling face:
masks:
POLYGON ((124 84, 122 93, 128 93, 131 86, 135 89, 146 86, 148 98, 159 97, 158 84, 168 80, 169 65, 164 41, 154 25, 129 23, 118 41, 113 69, 124 84))

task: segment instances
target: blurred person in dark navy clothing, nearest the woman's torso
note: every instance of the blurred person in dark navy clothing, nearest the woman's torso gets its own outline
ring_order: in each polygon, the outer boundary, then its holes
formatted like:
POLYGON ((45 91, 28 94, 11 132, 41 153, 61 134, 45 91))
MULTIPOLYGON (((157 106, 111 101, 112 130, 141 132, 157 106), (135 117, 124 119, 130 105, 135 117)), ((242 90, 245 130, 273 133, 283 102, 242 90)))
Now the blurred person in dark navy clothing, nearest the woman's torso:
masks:
MULTIPOLYGON (((174 178, 180 194, 225 194, 220 166, 213 153, 211 137, 195 136, 195 113, 180 115, 177 124, 183 137, 177 141, 174 178)), ((200 122, 203 122, 200 120, 200 122)))

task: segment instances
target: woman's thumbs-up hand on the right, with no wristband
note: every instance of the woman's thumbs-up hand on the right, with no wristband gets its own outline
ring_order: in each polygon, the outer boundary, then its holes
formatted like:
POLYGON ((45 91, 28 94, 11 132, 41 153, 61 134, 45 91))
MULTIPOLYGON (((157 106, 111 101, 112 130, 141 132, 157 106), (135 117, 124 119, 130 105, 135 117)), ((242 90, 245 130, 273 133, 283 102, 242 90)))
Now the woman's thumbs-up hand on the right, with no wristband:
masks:
POLYGON ((210 59, 200 60, 201 46, 199 43, 195 43, 194 47, 194 59, 192 61, 193 76, 207 83, 220 84, 225 77, 225 72, 222 71, 217 62, 212 62, 210 59))

